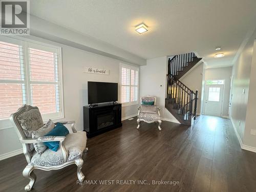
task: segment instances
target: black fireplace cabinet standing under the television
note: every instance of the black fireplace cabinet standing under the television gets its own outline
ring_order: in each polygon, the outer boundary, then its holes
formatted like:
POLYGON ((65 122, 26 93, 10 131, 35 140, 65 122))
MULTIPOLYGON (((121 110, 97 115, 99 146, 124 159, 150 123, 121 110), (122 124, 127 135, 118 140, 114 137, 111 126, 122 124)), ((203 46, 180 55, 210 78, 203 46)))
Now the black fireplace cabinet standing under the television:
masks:
POLYGON ((83 131, 90 138, 122 126, 121 111, 117 102, 83 106, 83 131))

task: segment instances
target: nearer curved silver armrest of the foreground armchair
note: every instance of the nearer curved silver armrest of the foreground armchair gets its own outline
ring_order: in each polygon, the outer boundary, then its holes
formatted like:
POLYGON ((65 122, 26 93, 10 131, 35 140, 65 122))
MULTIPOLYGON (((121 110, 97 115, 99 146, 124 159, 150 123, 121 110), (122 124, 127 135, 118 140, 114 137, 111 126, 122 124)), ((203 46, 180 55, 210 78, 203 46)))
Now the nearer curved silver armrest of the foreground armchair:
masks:
POLYGON ((61 150, 61 154, 63 156, 63 161, 67 162, 69 157, 69 152, 67 151, 66 147, 64 146, 63 141, 66 137, 63 136, 42 136, 38 137, 37 139, 23 139, 20 138, 19 141, 21 143, 30 144, 30 143, 38 143, 38 142, 52 142, 52 141, 59 141, 59 148, 61 150))

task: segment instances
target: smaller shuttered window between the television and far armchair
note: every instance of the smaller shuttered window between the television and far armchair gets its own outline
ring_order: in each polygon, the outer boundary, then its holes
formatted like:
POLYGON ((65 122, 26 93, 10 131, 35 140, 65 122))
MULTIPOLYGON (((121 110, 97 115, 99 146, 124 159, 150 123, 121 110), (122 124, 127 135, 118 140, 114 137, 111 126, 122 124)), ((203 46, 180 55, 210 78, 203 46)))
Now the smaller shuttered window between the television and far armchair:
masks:
POLYGON ((139 68, 120 64, 121 102, 123 105, 138 103, 139 68))

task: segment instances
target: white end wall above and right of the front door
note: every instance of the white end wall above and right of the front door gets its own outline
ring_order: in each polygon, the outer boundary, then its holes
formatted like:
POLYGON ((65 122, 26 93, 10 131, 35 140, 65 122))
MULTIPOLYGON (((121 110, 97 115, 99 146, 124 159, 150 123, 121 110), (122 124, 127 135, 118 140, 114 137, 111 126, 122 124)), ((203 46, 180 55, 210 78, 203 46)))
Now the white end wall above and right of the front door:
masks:
POLYGON ((221 116, 228 117, 228 105, 229 105, 229 92, 230 92, 230 79, 231 79, 232 67, 225 68, 211 68, 205 70, 205 81, 206 80, 225 80, 224 85, 224 98, 223 108, 221 116))

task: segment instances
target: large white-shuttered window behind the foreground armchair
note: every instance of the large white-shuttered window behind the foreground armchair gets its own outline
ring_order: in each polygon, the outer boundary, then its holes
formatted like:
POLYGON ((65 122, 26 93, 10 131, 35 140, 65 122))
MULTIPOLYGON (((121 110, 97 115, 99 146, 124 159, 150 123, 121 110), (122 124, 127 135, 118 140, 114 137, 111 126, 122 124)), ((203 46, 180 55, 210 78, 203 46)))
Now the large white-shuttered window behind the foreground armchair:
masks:
POLYGON ((61 50, 0 38, 0 120, 23 104, 38 106, 44 119, 62 118, 61 50))

